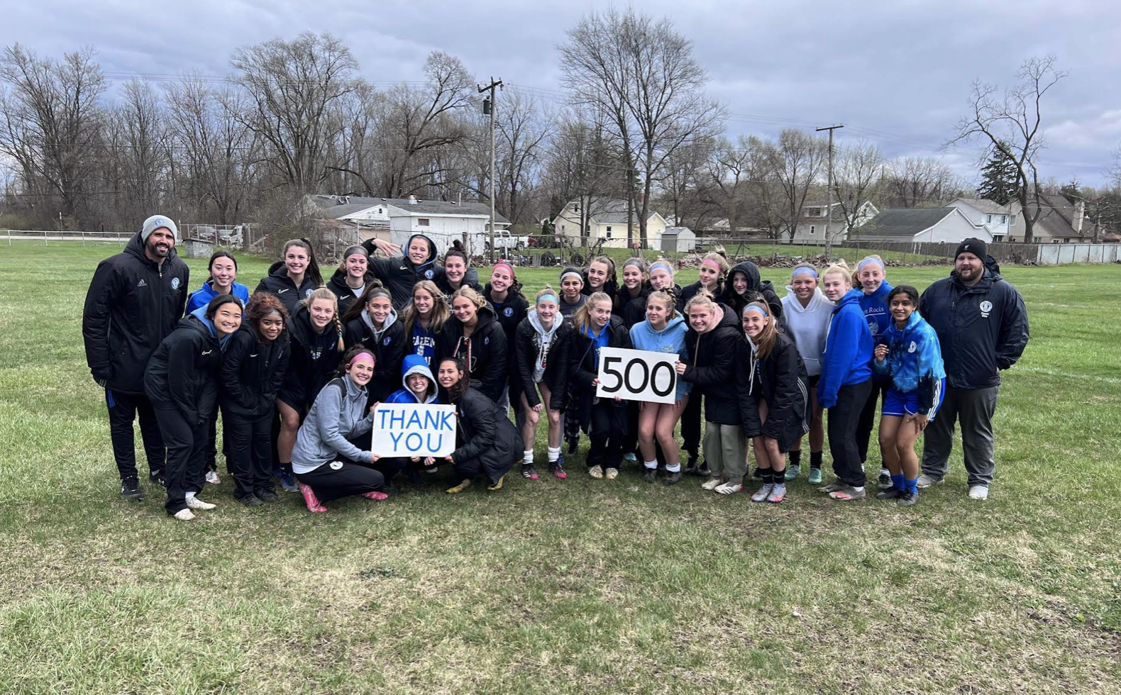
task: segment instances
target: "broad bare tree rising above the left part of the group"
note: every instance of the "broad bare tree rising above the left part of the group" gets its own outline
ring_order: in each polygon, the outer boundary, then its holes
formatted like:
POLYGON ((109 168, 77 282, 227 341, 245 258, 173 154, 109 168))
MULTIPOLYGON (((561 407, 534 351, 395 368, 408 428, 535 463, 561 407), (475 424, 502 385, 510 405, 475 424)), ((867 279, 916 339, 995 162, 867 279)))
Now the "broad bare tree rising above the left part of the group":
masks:
POLYGON ((350 48, 330 34, 305 31, 290 41, 238 48, 230 63, 249 95, 242 123, 268 143, 268 161, 281 180, 309 192, 324 175, 325 148, 336 135, 331 109, 358 86, 350 48))

